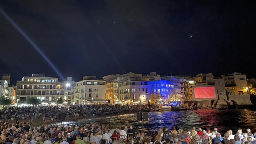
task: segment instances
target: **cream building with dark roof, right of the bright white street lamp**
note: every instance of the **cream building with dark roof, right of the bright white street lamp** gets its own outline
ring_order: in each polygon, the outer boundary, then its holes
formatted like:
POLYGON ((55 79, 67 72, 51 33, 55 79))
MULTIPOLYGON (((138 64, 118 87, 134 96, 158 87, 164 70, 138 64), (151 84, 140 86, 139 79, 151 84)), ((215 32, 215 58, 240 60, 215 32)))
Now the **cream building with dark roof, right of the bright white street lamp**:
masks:
POLYGON ((106 81, 95 76, 85 76, 82 81, 76 82, 72 88, 74 93, 73 104, 86 104, 90 102, 108 102, 105 99, 106 81))

